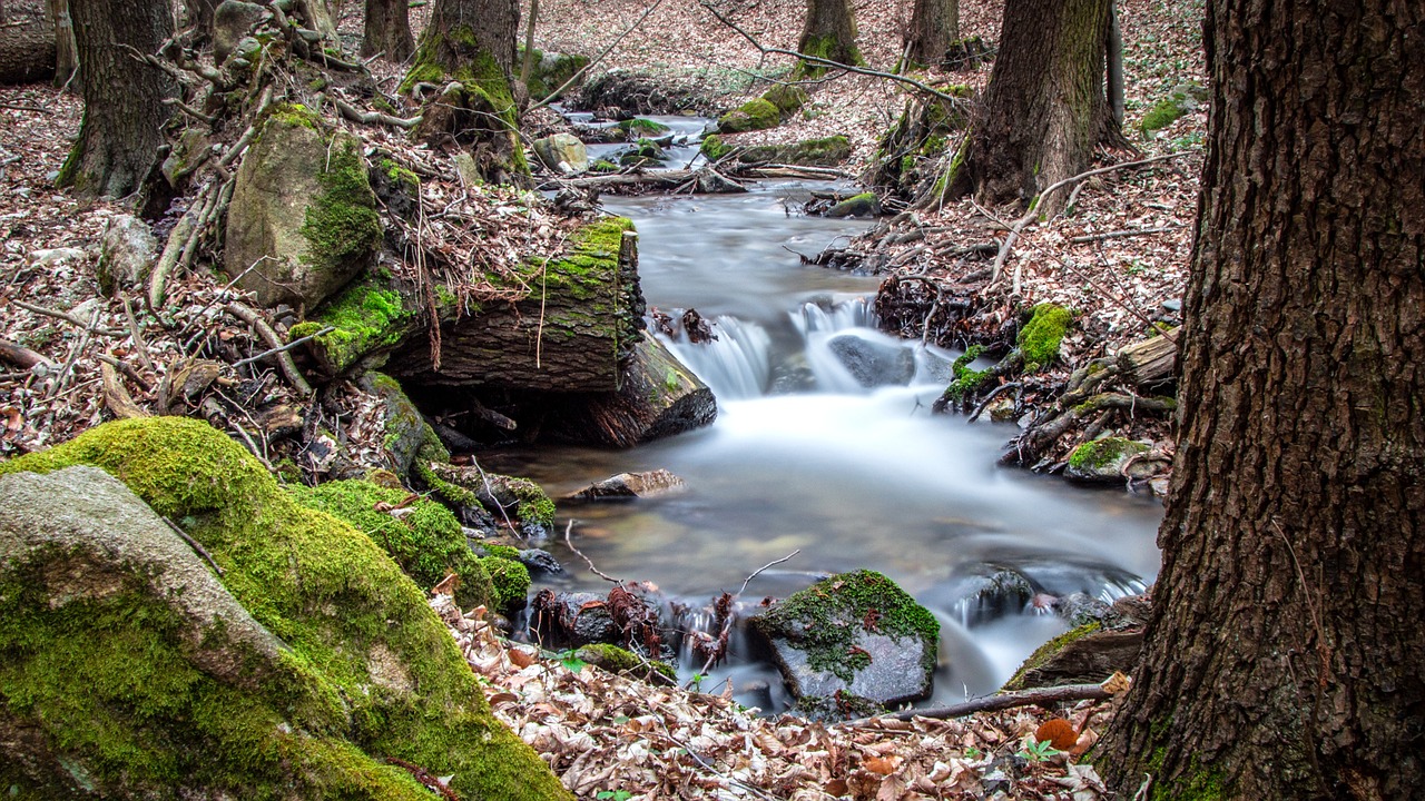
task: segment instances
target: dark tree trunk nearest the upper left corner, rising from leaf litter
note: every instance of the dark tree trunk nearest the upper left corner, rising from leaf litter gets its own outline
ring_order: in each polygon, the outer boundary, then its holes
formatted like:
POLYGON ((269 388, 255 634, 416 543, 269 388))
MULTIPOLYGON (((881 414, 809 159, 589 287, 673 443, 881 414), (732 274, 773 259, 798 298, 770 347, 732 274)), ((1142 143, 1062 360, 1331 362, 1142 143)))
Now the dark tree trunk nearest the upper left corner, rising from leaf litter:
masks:
POLYGON ((58 184, 91 197, 124 197, 152 168, 174 81, 134 57, 155 53, 172 33, 167 0, 70 0, 84 86, 84 121, 58 184), (130 50, 130 47, 133 50, 130 50))

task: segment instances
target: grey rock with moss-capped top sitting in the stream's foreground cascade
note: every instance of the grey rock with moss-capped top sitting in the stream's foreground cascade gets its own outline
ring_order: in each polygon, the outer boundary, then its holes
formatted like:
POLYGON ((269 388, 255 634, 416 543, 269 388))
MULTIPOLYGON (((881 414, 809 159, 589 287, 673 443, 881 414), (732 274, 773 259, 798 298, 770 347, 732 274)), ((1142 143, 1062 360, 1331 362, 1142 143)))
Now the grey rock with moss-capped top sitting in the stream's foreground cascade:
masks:
POLYGON ((931 694, 940 624, 874 570, 841 573, 752 620, 797 697, 849 693, 878 704, 931 694))

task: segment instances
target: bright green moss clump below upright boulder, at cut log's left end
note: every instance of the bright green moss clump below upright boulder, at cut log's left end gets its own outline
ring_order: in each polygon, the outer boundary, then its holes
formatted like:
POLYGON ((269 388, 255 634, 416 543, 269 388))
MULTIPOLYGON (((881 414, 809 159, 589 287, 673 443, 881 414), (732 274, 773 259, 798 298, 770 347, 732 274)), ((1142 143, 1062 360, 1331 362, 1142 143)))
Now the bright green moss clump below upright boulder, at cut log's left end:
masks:
POLYGON ((341 375, 366 356, 399 345, 413 315, 396 291, 366 277, 322 304, 306 322, 294 325, 288 338, 301 339, 332 328, 314 339, 315 351, 326 372, 341 375))

